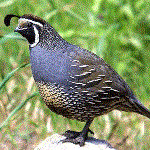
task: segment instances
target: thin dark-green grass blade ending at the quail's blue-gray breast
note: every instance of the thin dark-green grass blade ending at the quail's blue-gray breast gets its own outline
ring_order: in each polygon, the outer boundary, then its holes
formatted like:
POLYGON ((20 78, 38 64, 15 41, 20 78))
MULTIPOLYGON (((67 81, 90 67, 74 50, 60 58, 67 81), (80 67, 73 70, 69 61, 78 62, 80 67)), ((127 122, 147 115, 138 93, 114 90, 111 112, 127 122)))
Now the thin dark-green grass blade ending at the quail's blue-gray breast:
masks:
POLYGON ((2 89, 2 87, 6 84, 6 82, 15 74, 16 71, 18 71, 20 68, 24 68, 26 66, 28 66, 29 63, 24 64, 16 69, 14 69, 12 72, 8 73, 8 75, 3 79, 3 81, 0 83, 0 90, 2 89))

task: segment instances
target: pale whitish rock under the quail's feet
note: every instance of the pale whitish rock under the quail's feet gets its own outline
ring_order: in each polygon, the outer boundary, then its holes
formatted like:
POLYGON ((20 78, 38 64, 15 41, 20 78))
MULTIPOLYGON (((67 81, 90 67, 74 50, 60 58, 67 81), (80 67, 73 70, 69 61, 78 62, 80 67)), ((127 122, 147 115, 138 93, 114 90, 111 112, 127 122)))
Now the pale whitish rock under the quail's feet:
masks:
POLYGON ((64 138, 62 135, 54 134, 47 137, 35 150, 115 150, 108 142, 93 137, 89 137, 83 147, 72 143, 62 143, 61 140, 64 138))

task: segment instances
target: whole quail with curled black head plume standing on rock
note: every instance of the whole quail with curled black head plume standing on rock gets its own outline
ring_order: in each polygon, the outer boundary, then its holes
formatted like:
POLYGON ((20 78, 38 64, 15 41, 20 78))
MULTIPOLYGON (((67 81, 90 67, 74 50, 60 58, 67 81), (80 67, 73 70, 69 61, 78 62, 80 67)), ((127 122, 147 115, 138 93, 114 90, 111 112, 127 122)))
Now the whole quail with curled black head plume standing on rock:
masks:
POLYGON ((150 111, 136 98, 123 78, 96 54, 64 40, 44 19, 24 14, 15 32, 29 43, 30 63, 39 93, 58 115, 86 122, 81 132, 66 131, 62 142, 85 145, 95 117, 113 110, 135 112, 150 118, 150 111))

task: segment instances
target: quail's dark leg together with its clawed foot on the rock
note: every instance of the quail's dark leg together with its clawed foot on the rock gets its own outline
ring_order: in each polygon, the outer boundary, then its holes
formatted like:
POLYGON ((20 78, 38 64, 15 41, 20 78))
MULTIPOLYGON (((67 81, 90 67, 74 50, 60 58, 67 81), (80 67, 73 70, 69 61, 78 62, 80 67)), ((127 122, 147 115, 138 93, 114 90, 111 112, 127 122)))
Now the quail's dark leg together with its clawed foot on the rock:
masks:
POLYGON ((63 135, 66 136, 66 139, 62 140, 62 142, 71 142, 74 144, 79 144, 80 146, 84 146, 85 141, 88 137, 88 132, 94 134, 90 129, 89 126, 93 120, 88 120, 82 130, 82 132, 75 132, 75 131, 66 131, 63 135))

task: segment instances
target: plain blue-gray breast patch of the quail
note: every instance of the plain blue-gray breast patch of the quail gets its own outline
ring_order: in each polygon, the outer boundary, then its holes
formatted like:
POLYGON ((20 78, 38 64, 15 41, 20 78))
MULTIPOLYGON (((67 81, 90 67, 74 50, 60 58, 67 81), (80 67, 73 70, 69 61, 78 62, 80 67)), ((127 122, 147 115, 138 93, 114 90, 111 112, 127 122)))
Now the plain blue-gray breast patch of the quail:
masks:
POLYGON ((71 61, 65 53, 50 52, 41 47, 30 48, 32 73, 36 81, 63 82, 68 80, 71 61))

